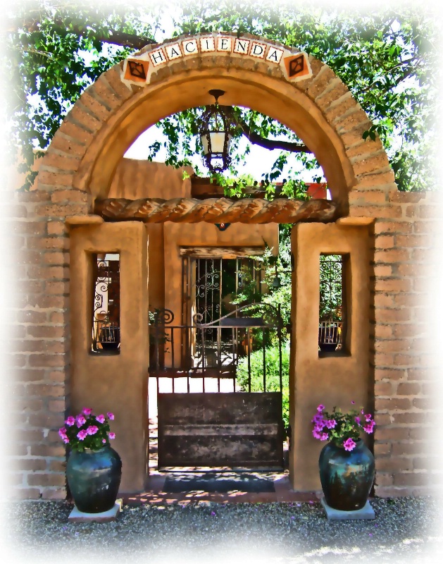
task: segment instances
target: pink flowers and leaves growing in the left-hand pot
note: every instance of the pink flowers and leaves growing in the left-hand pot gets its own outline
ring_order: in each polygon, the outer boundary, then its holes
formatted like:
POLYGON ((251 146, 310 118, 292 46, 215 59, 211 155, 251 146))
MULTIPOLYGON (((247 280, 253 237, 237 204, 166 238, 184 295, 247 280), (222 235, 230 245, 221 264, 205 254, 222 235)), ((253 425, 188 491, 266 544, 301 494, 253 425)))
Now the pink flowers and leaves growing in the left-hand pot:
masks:
POLYGON ((63 443, 67 444, 71 450, 82 453, 85 448, 99 450, 104 446, 109 446, 109 440, 116 438, 116 434, 110 432, 109 421, 113 421, 114 415, 111 412, 104 415, 94 415, 90 407, 85 407, 81 413, 73 417, 70 415, 65 420, 65 427, 58 429, 63 443))

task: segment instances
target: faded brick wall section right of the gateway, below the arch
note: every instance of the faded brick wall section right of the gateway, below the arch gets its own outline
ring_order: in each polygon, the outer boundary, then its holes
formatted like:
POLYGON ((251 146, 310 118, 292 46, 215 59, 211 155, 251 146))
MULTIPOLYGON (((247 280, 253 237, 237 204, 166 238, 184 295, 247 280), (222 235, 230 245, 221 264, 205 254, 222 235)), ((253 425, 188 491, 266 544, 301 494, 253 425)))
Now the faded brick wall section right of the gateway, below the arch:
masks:
MULTIPOLYGON (((430 429, 439 391, 437 290, 442 198, 438 192, 352 192, 350 215, 373 226, 372 363, 379 496, 430 494, 430 429)), ((442 335, 443 336, 443 335, 442 335)), ((441 346, 441 345, 440 345, 441 346)))

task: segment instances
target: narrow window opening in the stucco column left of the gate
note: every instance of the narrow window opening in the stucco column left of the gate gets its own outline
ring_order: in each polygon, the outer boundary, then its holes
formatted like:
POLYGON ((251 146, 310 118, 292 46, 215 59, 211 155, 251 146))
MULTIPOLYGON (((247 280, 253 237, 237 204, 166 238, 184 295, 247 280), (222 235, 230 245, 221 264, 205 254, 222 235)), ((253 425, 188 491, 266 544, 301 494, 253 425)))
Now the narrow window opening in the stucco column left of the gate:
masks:
POLYGON ((92 255, 94 305, 92 351, 120 353, 120 255, 92 255))

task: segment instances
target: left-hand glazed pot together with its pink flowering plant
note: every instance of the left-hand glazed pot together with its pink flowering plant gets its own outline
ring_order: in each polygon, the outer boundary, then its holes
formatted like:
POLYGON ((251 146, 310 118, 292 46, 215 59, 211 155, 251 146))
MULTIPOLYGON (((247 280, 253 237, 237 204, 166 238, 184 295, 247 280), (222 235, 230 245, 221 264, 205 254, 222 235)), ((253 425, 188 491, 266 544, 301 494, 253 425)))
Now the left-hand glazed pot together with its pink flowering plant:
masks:
POLYGON ((70 493, 83 513, 101 513, 116 503, 122 462, 109 443, 116 437, 108 423, 113 419, 111 412, 106 417, 94 415, 90 407, 85 407, 58 429, 63 443, 70 448, 66 463, 70 493))

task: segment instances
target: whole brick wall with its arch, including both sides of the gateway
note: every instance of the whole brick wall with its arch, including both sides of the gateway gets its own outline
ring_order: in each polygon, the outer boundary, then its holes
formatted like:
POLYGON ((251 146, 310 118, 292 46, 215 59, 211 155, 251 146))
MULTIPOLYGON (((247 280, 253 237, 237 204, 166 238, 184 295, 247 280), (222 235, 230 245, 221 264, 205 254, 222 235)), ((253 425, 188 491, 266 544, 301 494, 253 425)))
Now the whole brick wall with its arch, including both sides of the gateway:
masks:
POLYGON ((71 408, 65 219, 91 212, 92 194, 108 192, 119 158, 143 128, 173 111, 207 104, 211 87, 232 89, 226 104, 254 107, 296 130, 318 153, 344 212, 349 203, 349 216, 375 218, 368 311, 370 393, 378 422, 375 491, 420 494, 435 487, 428 402, 437 370, 428 350, 427 294, 441 204, 431 192, 397 192, 380 140, 361 138, 370 126, 364 111, 329 67, 312 57, 310 63, 312 77, 289 84, 264 62, 201 54, 161 68, 144 88, 123 84, 115 66, 66 116, 42 162, 38 190, 15 193, 8 212, 17 257, 15 326, 8 333, 11 495, 66 494, 65 449, 56 431, 71 408))

